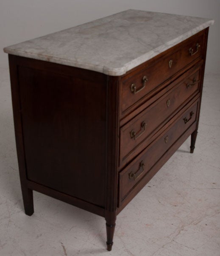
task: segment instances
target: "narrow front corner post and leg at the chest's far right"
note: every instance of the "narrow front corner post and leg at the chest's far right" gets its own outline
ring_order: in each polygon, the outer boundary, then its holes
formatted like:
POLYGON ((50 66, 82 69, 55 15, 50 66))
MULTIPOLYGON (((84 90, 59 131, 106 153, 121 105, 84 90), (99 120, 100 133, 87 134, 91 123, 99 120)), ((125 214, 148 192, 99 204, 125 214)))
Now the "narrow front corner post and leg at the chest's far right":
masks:
POLYGON ((202 99, 202 92, 203 92, 203 81, 204 81, 204 72, 205 72, 205 63, 206 63, 206 50, 207 50, 207 42, 208 42, 208 35, 209 35, 209 28, 206 28, 206 31, 204 33, 204 52, 203 52, 203 65, 200 73, 200 101, 199 101, 199 107, 198 107, 198 113, 197 113, 197 124, 196 129, 191 134, 191 145, 190 145, 190 153, 194 152, 195 149, 195 141, 198 134, 198 125, 199 125, 199 116, 200 116, 200 109, 201 109, 201 99, 202 99))

